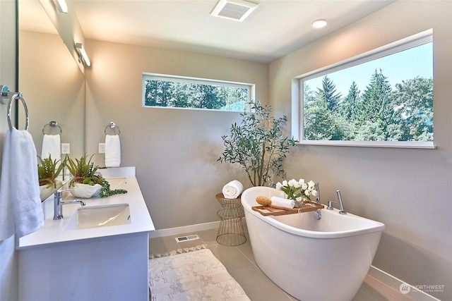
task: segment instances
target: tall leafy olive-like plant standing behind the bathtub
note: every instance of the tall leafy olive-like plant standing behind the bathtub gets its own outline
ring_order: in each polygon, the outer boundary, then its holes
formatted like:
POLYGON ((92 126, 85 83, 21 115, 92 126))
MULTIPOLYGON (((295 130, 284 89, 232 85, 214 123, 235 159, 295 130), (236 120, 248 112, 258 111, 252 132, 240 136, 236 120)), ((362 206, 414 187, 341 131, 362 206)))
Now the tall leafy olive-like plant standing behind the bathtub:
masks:
POLYGON ((273 176, 285 176, 283 161, 296 140, 283 135, 286 116, 270 116, 271 107, 251 103, 254 113, 241 113, 242 123, 234 123, 230 135, 222 136, 225 150, 221 162, 238 163, 251 185, 274 185, 273 176))

